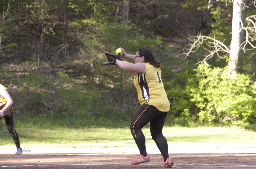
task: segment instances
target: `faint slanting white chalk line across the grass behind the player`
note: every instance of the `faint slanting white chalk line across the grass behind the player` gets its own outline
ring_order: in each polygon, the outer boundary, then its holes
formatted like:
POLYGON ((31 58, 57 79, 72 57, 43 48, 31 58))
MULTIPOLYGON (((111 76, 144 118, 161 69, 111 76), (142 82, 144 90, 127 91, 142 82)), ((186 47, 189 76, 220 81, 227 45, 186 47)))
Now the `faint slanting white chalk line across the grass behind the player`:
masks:
MULTIPOLYGON (((168 134, 164 134, 164 136, 200 133, 200 132, 219 130, 219 129, 221 129, 221 127, 214 127, 214 128, 202 129, 202 130, 194 130, 194 131, 184 131, 184 132, 177 132, 177 133, 168 133, 168 134)), ((145 139, 151 139, 151 138, 152 138, 151 136, 145 137, 145 139)), ((96 144, 97 145, 98 144, 118 144, 118 143, 125 143, 125 142, 134 142, 134 140, 124 140, 124 141, 120 141, 120 142, 100 142, 100 143, 96 143, 96 144)))

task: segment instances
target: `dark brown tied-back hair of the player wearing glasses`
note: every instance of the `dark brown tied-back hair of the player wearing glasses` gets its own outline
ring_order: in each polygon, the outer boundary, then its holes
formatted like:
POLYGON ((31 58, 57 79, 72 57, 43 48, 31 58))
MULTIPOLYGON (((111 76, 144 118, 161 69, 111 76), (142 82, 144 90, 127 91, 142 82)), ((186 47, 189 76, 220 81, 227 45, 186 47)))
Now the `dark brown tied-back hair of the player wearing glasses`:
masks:
POLYGON ((156 66, 157 68, 161 66, 161 63, 156 59, 154 53, 151 50, 147 48, 140 48, 138 51, 140 56, 144 56, 145 63, 149 63, 150 65, 156 66))

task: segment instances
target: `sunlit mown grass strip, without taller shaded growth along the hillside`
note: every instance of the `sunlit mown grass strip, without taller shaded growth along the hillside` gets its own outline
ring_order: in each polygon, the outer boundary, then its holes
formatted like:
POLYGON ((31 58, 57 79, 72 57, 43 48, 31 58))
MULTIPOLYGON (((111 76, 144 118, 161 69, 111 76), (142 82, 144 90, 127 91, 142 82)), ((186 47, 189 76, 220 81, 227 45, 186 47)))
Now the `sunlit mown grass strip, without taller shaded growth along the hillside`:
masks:
MULTIPOLYGON (((2 122, 1 122, 2 123, 2 122)), ((130 133, 129 126, 126 128, 29 128, 16 127, 20 136, 20 143, 25 146, 57 146, 57 147, 123 147, 136 146, 130 133), (124 142, 121 141, 129 141, 124 142), (121 143, 115 143, 121 142, 121 143), (97 144, 98 143, 98 144, 97 144)), ((7 129, 0 126, 0 146, 14 145, 7 129)), ((143 128, 146 138, 150 138, 148 126, 143 128)), ((164 127, 164 135, 169 144, 171 143, 255 143, 256 133, 240 128, 211 128, 211 127, 164 127), (211 130, 215 129, 215 130, 211 130), (206 130, 206 131, 202 131, 206 130), (196 132, 200 131, 200 132, 196 132), (195 133, 184 133, 195 132, 195 133), (173 135, 168 135, 173 134, 173 135)), ((147 144, 155 144, 153 139, 147 139, 147 144)))

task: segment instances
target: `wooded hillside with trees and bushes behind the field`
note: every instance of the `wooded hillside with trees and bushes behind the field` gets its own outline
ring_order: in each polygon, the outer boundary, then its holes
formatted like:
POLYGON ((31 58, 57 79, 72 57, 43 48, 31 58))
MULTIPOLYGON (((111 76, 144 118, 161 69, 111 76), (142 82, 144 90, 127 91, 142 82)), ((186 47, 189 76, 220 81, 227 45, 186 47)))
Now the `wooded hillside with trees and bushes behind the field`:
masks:
POLYGON ((255 5, 253 0, 3 0, 1 83, 21 120, 123 123, 140 106, 133 74, 101 65, 103 51, 123 47, 135 54, 146 47, 162 63, 171 103, 167 125, 255 129, 255 5))

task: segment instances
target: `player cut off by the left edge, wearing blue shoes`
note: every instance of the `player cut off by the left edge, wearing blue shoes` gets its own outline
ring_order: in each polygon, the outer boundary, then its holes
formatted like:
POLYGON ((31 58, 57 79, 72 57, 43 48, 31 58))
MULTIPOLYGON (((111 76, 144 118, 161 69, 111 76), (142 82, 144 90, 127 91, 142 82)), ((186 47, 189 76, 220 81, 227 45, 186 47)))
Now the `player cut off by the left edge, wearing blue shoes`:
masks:
POLYGON ((7 88, 0 84, 0 119, 4 118, 6 127, 12 136, 17 147, 15 154, 21 154, 19 136, 14 128, 14 111, 12 106, 12 97, 9 95, 7 88))

